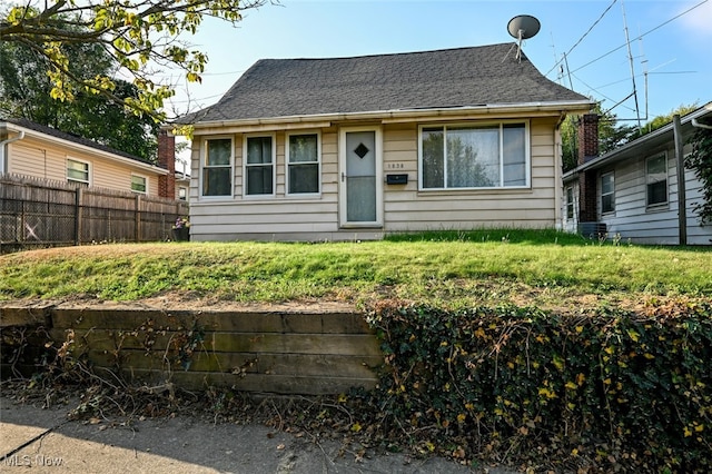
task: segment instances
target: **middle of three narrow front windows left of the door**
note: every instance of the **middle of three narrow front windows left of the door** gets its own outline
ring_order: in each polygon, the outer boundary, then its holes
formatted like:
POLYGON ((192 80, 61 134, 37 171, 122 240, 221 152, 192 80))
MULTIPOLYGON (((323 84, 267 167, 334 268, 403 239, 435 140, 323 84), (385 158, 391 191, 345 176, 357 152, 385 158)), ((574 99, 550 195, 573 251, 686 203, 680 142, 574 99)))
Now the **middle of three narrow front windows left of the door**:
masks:
POLYGON ((245 140, 245 194, 275 194, 275 138, 247 137, 245 140))

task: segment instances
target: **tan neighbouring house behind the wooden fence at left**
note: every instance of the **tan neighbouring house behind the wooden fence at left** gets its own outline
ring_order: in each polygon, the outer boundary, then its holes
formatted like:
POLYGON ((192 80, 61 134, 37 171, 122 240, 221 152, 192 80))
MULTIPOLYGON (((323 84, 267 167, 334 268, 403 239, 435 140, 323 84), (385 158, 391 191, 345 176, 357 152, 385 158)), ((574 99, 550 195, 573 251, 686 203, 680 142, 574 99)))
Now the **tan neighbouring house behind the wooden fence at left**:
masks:
POLYGON ((0 175, 176 198, 172 142, 159 136, 159 166, 26 119, 0 120, 0 175))

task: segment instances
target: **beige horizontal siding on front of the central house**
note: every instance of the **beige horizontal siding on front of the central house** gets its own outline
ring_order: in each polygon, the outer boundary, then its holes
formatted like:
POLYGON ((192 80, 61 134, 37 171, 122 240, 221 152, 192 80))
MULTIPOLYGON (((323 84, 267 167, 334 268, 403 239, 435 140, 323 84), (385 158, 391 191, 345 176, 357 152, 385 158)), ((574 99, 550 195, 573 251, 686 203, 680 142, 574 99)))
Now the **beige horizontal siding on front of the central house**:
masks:
MULTIPOLYGON (((555 126, 557 118, 528 121, 531 187, 483 190, 418 190, 418 124, 388 124, 383 131, 383 174, 407 174, 406 185, 384 184, 384 225, 367 229, 339 228, 338 194, 340 170, 339 128, 319 131, 322 138, 320 195, 298 197, 286 194, 286 132, 274 132, 276 146, 275 195, 244 196, 243 140, 245 135, 227 135, 234 142, 234 190, 230 198, 200 196, 199 179, 191 180, 191 238, 235 239, 352 239, 380 238, 384 233, 428 229, 473 229, 481 227, 554 227, 561 206, 556 186, 555 126)), ((297 132, 289 130, 290 132, 297 132)), ((216 130, 217 134, 217 130, 216 130)), ((273 132, 269 132, 273 134, 273 132)), ((253 134, 250 134, 253 135, 253 134)), ((219 135, 226 137, 226 135, 219 135)), ((216 135, 215 137, 218 137, 216 135)), ((191 176, 199 177, 205 139, 192 148, 191 176)))

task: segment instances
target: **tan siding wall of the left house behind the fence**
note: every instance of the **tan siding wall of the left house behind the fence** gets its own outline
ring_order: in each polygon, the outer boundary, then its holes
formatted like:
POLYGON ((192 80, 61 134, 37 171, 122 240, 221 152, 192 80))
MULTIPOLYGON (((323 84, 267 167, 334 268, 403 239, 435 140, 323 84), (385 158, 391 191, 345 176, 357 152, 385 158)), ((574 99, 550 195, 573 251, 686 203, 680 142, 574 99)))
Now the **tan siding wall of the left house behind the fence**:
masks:
POLYGON ((158 175, 130 162, 115 161, 103 155, 65 147, 27 136, 8 146, 8 172, 36 178, 67 181, 67 159, 89 164, 90 186, 131 190, 131 174, 147 178, 147 194, 158 195, 158 175))

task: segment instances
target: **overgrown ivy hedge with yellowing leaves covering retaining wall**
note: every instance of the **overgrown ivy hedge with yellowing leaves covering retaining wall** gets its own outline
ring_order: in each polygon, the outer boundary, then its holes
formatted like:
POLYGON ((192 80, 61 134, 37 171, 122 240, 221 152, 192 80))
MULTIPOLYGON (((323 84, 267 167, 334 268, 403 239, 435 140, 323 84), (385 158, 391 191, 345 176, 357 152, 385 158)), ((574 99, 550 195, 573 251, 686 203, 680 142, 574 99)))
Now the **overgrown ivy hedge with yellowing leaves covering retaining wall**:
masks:
POLYGON ((712 472, 712 306, 458 313, 382 304, 379 428, 463 462, 712 472))

